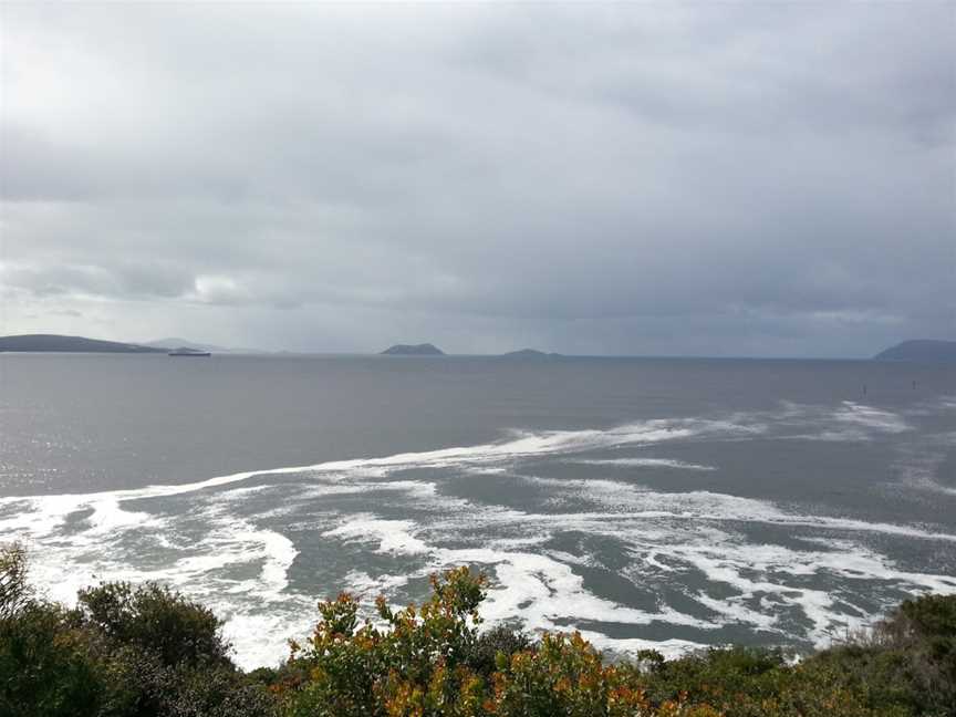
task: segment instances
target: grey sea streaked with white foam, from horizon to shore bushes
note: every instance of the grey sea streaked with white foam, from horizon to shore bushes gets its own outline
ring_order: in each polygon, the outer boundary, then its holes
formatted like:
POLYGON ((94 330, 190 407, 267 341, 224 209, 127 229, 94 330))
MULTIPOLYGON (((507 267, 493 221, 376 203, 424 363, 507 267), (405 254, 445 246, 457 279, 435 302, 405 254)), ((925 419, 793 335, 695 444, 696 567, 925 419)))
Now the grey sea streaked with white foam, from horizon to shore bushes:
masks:
POLYGON ((0 541, 159 580, 270 664, 315 601, 485 570, 490 624, 808 648, 956 592, 956 370, 0 354, 0 541))

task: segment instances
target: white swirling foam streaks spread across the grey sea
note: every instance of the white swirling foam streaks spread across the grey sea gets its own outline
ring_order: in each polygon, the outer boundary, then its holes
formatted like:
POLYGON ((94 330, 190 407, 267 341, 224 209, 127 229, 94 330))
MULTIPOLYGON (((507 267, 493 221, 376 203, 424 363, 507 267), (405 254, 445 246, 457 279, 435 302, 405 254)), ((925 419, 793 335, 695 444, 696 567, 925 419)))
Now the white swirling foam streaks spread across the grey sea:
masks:
MULTIPOLYGON (((815 409, 829 415, 828 425, 836 433, 842 429, 869 437, 910 429, 895 414, 862 404, 846 403, 828 411, 815 409)), ((318 619, 314 595, 290 586, 289 572, 298 557, 289 537, 292 529, 321 536, 324 543, 341 541, 360 551, 364 548, 378 555, 376 563, 395 563, 393 571, 374 576, 367 567, 356 564, 331 590, 351 588, 371 600, 380 591, 404 590, 409 581, 430 571, 479 565, 495 578, 482 611, 490 624, 517 619, 533 631, 580 624, 588 627, 585 637, 595 645, 614 651, 654 647, 671 655, 702 643, 619 640, 603 634, 602 623, 671 624, 702 640, 735 623, 822 643, 834 630, 866 620, 862 609, 849 614, 841 607, 841 603, 850 604, 860 581, 879 581, 898 591, 956 592, 956 578, 902 570, 862 542, 869 534, 956 542, 956 536, 938 530, 801 515, 721 492, 666 492, 619 480, 524 476, 519 469, 526 459, 561 456, 582 465, 713 470, 711 466, 668 458, 576 460, 573 454, 692 438, 746 438, 769 429, 772 422, 763 418, 759 423, 746 416, 651 420, 611 430, 516 433, 480 446, 245 471, 180 486, 2 498, 0 540, 25 538, 32 543, 37 549, 34 578, 48 586, 51 598, 64 602, 72 602, 76 589, 93 582, 94 574, 136 582, 159 580, 183 590, 226 620, 226 635, 236 645, 237 661, 247 668, 284 657, 285 637, 305 634, 318 619), (408 468, 447 470, 415 480, 388 479, 394 471, 408 468), (449 496, 439 490, 448 472, 466 472, 469 480, 480 480, 482 475, 510 476, 544 489, 547 505, 518 510, 449 496), (294 475, 294 480, 269 482, 270 476, 288 475, 294 475), (252 479, 263 482, 242 485, 252 479), (272 490, 281 505, 270 506, 266 493, 272 490), (371 492, 387 492, 389 513, 397 508, 409 517, 396 520, 335 508, 335 500, 371 492), (162 507, 154 500, 187 493, 196 495, 185 513, 150 512, 162 507), (135 511, 124 508, 132 500, 139 501, 135 511), (263 507, 257 510, 257 505, 263 507), (543 511, 565 505, 563 512, 543 511), (748 524, 788 528, 801 536, 804 548, 749 543, 740 533, 748 524), (183 537, 191 534, 181 533, 187 530, 196 533, 193 544, 183 537), (558 550, 549 544, 552 538, 571 533, 581 537, 578 548, 558 550), (135 538, 134 542, 154 539, 169 558, 162 565, 144 564, 143 555, 149 551, 125 545, 119 540, 124 537, 135 538), (591 539, 620 548, 611 567, 603 567, 600 549, 595 552, 585 545, 591 539), (107 542, 110 549, 104 550, 107 542), (676 610, 663 598, 645 610, 620 604, 596 594, 579 574, 600 570, 613 571, 644 593, 678 590, 686 604, 696 607, 676 610), (703 578, 696 579, 699 584, 720 585, 723 591, 692 586, 697 584, 688 582, 694 575, 703 578), (810 580, 839 585, 839 601, 824 588, 808 588, 810 580), (787 622, 794 612, 809 628, 787 622)), ((784 419, 802 427, 818 417, 791 406, 784 407, 784 419)))

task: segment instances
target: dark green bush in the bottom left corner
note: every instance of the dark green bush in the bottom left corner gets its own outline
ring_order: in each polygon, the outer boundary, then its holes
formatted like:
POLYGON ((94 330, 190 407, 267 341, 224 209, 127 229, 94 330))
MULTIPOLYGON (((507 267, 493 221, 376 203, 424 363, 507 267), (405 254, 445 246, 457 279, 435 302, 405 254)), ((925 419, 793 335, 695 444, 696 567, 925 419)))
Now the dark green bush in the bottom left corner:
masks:
MULTIPOLYGON (((0 548, 0 584, 24 574, 22 548, 0 548)), ((103 583, 76 610, 25 588, 4 594, 15 599, 0 612, 3 717, 274 715, 266 688, 229 659, 219 620, 166 588, 103 583)))

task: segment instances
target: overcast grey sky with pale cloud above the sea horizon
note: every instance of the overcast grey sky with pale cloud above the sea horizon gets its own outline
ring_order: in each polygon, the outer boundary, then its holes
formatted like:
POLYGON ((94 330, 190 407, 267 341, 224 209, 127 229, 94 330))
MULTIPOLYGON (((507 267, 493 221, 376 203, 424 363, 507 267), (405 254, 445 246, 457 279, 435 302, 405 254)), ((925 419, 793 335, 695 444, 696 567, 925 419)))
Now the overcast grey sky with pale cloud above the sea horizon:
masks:
POLYGON ((0 333, 956 339, 956 4, 0 6, 0 333))

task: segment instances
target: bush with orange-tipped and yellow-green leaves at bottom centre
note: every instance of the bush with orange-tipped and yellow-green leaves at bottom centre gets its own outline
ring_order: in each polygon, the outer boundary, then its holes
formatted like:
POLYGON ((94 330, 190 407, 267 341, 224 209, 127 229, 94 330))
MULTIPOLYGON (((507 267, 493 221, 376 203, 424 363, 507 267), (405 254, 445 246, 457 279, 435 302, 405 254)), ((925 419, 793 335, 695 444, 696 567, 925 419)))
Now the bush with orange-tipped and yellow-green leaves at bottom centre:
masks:
POLYGON ((467 568, 433 578, 433 595, 393 612, 384 626, 360 625, 349 594, 320 603, 309 644, 290 665, 304 676, 281 686, 287 717, 624 717, 716 715, 685 698, 654 707, 630 665, 605 666, 580 635, 544 635, 537 645, 498 628, 479 635, 485 578, 467 568), (495 655, 493 658, 490 657, 495 655), (493 659, 493 666, 489 664, 493 659))

